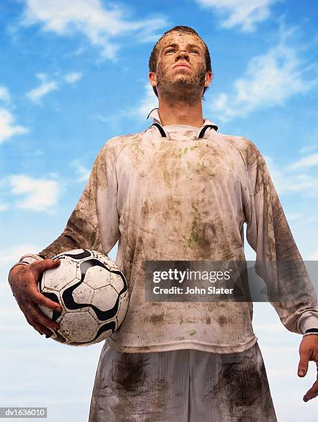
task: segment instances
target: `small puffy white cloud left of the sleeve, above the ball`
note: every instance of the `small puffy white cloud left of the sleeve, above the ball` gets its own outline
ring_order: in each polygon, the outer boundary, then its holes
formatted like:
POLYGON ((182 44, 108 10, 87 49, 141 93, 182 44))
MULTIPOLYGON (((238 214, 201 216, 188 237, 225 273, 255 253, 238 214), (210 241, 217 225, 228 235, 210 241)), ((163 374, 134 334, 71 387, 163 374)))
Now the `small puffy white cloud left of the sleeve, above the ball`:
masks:
POLYGON ((52 212, 61 194, 59 181, 34 179, 24 174, 8 177, 10 193, 20 197, 15 202, 17 208, 52 212))

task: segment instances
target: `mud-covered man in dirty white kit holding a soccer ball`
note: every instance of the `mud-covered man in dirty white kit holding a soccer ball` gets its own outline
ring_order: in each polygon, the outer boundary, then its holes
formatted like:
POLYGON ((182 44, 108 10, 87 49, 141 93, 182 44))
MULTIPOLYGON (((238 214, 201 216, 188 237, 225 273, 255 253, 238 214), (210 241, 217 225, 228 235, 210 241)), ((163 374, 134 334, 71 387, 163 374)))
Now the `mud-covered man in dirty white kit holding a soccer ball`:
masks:
MULTIPOLYGON (((54 309, 56 303, 37 292, 37 279, 59 265, 51 258, 74 248, 107 254, 119 240, 116 262, 130 305, 103 346, 90 422, 276 421, 251 303, 145 301, 145 261, 244 261, 244 222, 258 262, 303 265, 259 150, 203 119, 212 71, 197 32, 186 26, 165 32, 149 66, 159 99, 152 126, 103 146, 66 229, 12 268, 12 291, 28 322, 50 335, 48 328, 58 325, 37 304, 54 309)), ((305 290, 289 305, 272 303, 288 330, 306 332, 299 376, 308 361, 318 362, 318 307, 309 279, 305 290)), ((317 395, 318 381, 304 400, 317 395)))

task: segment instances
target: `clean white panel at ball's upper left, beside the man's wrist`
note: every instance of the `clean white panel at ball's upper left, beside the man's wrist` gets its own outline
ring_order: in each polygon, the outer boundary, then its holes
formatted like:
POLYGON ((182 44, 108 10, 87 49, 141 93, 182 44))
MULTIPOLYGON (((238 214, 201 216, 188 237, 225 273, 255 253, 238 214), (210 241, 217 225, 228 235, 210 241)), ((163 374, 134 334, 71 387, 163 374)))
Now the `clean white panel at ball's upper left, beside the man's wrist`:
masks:
POLYGON ((68 259, 61 259, 61 263, 57 268, 46 270, 43 273, 41 281, 42 288, 46 287, 59 292, 70 281, 77 277, 77 266, 68 259))

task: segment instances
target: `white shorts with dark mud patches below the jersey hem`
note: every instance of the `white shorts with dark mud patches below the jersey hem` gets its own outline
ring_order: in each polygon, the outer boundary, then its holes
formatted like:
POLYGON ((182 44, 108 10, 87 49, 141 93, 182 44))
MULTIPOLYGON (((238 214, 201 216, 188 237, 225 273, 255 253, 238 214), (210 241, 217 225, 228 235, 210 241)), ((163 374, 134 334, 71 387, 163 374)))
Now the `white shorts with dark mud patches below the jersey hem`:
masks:
POLYGON ((257 343, 241 353, 103 345, 89 422, 276 422, 257 343))

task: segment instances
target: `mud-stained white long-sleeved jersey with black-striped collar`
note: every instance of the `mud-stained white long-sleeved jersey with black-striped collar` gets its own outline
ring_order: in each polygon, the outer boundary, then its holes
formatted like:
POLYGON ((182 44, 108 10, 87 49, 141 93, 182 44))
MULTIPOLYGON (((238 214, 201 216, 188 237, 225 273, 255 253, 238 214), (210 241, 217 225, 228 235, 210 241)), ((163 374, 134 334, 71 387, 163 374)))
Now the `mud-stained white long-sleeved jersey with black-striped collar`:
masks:
MULTIPOLYGON (((266 163, 252 141, 208 119, 195 128, 162 126, 157 109, 151 116, 155 125, 101 148, 65 230, 39 255, 107 254, 119 241, 130 303, 108 342, 121 352, 242 352, 257 341, 252 303, 146 302, 145 261, 245 260, 244 223, 257 261, 301 261, 266 163)), ((287 306, 272 303, 292 332, 318 328, 309 278, 305 290, 287 306)))

